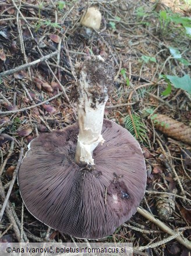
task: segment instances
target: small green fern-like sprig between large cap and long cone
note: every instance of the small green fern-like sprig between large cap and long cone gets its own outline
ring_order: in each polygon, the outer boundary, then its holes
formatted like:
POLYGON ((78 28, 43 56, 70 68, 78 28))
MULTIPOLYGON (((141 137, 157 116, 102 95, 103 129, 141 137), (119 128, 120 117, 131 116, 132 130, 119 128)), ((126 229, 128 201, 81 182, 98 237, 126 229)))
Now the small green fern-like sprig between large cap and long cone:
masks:
POLYGON ((138 138, 140 141, 143 141, 146 137, 147 137, 147 128, 144 125, 144 123, 142 122, 142 119, 139 115, 132 114, 132 118, 130 117, 130 115, 126 116, 124 118, 124 124, 125 124, 125 128, 136 138, 136 133, 138 138), (133 119, 133 120, 132 120, 133 119), (134 127, 134 125, 135 127, 134 127), (135 129, 136 129, 136 133, 135 133, 135 129))

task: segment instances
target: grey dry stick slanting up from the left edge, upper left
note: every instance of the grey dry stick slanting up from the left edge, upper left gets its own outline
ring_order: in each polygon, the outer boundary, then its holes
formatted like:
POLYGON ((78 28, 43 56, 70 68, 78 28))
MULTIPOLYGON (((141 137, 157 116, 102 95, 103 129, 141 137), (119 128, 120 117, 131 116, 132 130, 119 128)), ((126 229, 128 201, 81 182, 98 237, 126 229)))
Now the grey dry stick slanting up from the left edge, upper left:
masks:
POLYGON ((31 63, 20 65, 19 67, 12 68, 12 70, 7 70, 4 72, 1 72, 0 77, 5 77, 5 75, 12 75, 15 72, 18 72, 20 70, 25 70, 26 68, 36 65, 37 63, 40 63, 41 61, 48 60, 48 58, 51 58, 51 57, 55 56, 56 54, 58 54, 58 51, 54 51, 54 53, 50 53, 47 56, 43 56, 43 57, 39 58, 38 60, 32 61, 31 63))

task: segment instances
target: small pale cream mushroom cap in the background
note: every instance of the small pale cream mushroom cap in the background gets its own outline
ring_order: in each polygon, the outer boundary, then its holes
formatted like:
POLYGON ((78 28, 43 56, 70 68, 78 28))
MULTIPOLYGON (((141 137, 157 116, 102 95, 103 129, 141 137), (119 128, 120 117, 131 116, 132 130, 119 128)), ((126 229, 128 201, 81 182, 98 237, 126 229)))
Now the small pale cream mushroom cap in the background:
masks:
POLYGON ((80 24, 86 27, 90 27, 91 29, 100 29, 101 12, 94 7, 88 8, 87 11, 85 11, 82 15, 80 24))

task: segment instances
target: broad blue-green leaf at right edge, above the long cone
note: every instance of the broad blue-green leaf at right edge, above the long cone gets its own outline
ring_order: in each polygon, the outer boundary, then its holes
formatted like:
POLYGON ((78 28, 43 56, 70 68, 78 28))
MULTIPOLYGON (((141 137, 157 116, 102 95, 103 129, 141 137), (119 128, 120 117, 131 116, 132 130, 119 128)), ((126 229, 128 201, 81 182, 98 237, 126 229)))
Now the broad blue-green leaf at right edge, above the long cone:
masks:
POLYGON ((176 75, 167 75, 167 79, 174 85, 175 88, 181 88, 191 94, 191 78, 189 75, 176 77, 176 75))

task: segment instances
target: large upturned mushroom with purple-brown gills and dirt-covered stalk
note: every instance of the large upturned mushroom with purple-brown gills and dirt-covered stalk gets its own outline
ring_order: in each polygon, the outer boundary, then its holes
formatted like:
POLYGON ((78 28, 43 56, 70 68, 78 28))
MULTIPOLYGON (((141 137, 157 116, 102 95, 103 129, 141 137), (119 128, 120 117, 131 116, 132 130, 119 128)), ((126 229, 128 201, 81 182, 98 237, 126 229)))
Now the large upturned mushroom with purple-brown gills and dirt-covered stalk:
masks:
POLYGON ((135 214, 146 187, 142 150, 128 130, 103 119, 114 70, 101 57, 76 67, 78 117, 31 141, 19 170, 29 212, 61 233, 101 238, 135 214))

